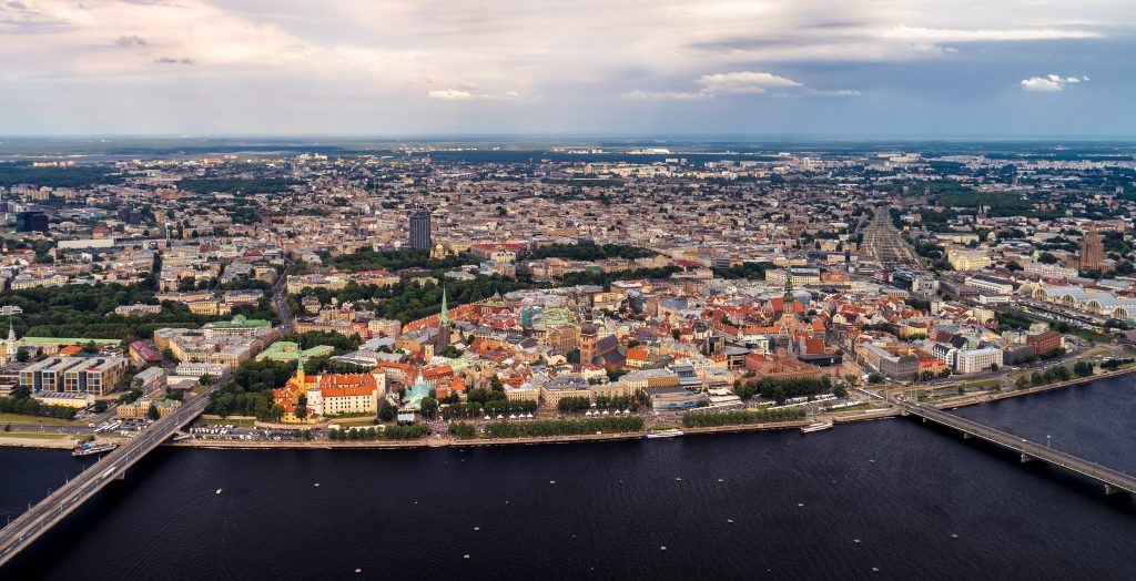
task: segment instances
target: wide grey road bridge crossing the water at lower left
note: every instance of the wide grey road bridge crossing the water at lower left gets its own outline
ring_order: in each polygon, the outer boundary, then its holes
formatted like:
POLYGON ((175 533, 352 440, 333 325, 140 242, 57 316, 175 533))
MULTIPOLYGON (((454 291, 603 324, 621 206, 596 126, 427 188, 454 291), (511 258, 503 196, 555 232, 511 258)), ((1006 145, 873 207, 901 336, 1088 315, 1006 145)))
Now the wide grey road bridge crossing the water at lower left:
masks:
POLYGON ((193 396, 11 521, 0 530, 0 566, 62 521, 87 498, 97 495, 105 486, 116 479, 120 480, 128 468, 193 421, 208 404, 208 393, 193 396))

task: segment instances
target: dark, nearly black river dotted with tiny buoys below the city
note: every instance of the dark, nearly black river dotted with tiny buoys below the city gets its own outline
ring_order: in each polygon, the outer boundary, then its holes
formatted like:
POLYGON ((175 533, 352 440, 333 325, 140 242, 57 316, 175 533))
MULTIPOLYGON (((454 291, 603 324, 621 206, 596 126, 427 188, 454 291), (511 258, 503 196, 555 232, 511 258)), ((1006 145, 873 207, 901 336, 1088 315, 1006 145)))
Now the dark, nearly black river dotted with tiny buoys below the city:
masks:
MULTIPOLYGON (((1136 471, 1130 377, 957 413, 1136 471)), ((0 451, 0 519, 81 465, 60 452, 0 451)), ((889 419, 810 435, 473 449, 165 448, 0 578, 1102 580, 1133 571, 1127 497, 889 419)))

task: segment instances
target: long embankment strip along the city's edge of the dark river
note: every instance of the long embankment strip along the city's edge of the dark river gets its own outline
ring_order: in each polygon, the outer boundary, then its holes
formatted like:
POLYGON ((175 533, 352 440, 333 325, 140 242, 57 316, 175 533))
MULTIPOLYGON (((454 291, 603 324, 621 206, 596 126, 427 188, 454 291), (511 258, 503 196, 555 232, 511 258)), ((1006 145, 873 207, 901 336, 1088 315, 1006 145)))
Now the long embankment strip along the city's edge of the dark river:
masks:
MULTIPOLYGON (((1068 381, 1061 381, 1055 384, 1049 384, 1044 386, 1028 387, 1025 389, 1011 389, 1006 391, 986 391, 983 394, 969 395, 969 396, 958 396, 947 399, 941 399, 937 402, 927 402, 929 405, 943 410, 952 410, 955 407, 967 407, 971 405, 979 405, 991 402, 999 402, 1002 399, 1009 399, 1012 397, 1022 397, 1035 394, 1042 394, 1045 391, 1053 391, 1058 389, 1064 389, 1068 387, 1076 387, 1084 384, 1091 384, 1093 381, 1114 379, 1118 377, 1124 377, 1128 374, 1136 373, 1136 368, 1122 369, 1118 371, 1110 371, 1106 373, 1101 373, 1092 377, 1074 378, 1068 381)), ((740 433, 749 431, 768 431, 768 430, 788 430, 794 428, 801 428, 809 426, 818 420, 828 420, 834 423, 854 423, 872 420, 884 420, 888 418, 896 418, 902 414, 901 410, 895 406, 882 407, 882 409, 870 409, 861 410, 859 412, 840 413, 829 412, 824 413, 815 418, 807 418, 802 420, 791 420, 783 422, 765 422, 765 423, 746 423, 746 424, 734 424, 734 426, 712 426, 704 428, 683 428, 684 436, 704 436, 715 433, 740 433)), ((541 444, 571 444, 579 441, 625 441, 634 439, 643 439, 646 436, 646 431, 642 432, 620 432, 620 433, 585 433, 576 436, 540 436, 540 437, 526 437, 526 438, 495 438, 495 439, 458 439, 450 436, 436 437, 421 440, 369 440, 369 441, 331 441, 331 440, 310 440, 310 441, 248 441, 248 440, 197 440, 197 439, 184 439, 178 441, 167 441, 162 444, 164 447, 178 447, 178 448, 203 448, 203 449, 399 449, 399 448, 442 448, 442 447, 456 447, 456 448, 474 448, 474 447, 487 447, 487 446, 533 446, 541 444)), ((70 449, 73 447, 72 439, 67 438, 66 435, 59 435, 57 438, 17 438, 17 437, 3 437, 0 435, 0 447, 14 447, 14 448, 40 448, 40 449, 70 449)))

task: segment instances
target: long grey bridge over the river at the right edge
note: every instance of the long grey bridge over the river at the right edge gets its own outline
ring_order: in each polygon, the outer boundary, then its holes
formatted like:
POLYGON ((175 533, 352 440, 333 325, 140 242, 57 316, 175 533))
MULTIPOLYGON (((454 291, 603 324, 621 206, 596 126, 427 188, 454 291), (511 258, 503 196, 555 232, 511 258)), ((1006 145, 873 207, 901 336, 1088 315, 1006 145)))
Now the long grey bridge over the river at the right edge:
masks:
POLYGON ((962 432, 963 438, 982 438, 986 441, 1021 454, 1022 462, 1042 461, 1061 466, 1070 472, 1088 477, 1104 485, 1105 494, 1136 494, 1136 475, 1127 474, 1095 462, 1089 462, 1067 452, 1053 449, 1044 444, 994 429, 984 423, 967 420, 928 405, 912 402, 894 402, 904 414, 918 415, 924 422, 934 422, 962 432))

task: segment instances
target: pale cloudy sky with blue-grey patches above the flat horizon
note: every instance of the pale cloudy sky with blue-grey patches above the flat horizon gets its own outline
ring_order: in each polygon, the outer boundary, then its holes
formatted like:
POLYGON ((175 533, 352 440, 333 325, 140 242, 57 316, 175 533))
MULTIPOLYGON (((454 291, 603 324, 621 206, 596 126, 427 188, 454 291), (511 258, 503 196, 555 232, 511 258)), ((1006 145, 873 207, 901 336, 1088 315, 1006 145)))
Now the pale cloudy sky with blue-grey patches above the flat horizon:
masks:
POLYGON ((1133 0, 0 0, 0 135, 1136 137, 1133 0))

